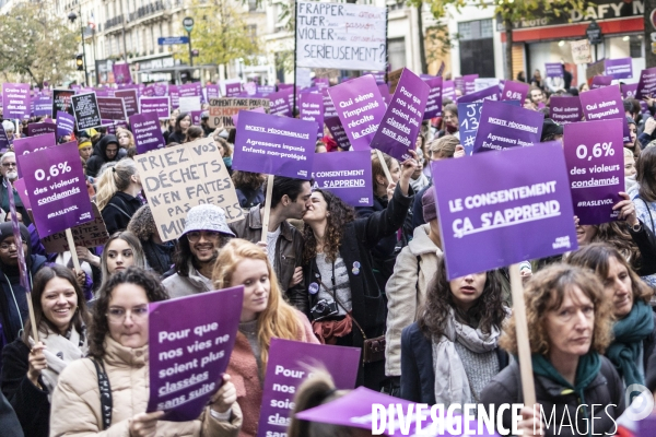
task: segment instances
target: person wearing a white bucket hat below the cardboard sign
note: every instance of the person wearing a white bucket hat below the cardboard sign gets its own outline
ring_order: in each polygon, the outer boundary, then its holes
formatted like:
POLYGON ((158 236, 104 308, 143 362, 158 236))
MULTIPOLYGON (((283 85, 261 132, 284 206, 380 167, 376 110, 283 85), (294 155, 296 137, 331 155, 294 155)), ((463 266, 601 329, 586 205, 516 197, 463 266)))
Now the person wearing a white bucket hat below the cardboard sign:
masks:
POLYGON ((171 297, 214 290, 211 277, 219 249, 234 236, 222 208, 212 204, 191 208, 173 255, 175 273, 163 282, 171 297))

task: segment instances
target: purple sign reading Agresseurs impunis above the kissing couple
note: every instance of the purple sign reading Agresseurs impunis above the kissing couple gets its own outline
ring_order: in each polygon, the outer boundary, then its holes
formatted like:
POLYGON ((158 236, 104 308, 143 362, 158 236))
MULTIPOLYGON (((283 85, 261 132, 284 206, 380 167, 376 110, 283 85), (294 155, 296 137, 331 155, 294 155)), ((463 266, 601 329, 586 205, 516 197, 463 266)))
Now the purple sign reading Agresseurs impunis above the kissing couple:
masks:
POLYGON ((313 121, 242 110, 233 168, 309 179, 316 132, 313 121))

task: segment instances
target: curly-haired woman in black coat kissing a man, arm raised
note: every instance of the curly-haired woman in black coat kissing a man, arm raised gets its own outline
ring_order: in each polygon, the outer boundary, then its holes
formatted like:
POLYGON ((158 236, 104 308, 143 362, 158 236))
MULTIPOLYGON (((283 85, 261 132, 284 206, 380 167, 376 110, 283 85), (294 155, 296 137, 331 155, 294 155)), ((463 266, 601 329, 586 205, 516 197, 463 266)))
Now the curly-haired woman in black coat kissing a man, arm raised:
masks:
MULTIPOLYGON (((365 336, 385 331, 385 300, 376 283, 371 250, 406 220, 412 198, 410 177, 417 155, 402 164, 401 177, 387 209, 355 220, 351 206, 325 190, 315 190, 303 215, 303 252, 309 319, 324 343, 363 347, 365 336)), ((384 361, 363 363, 358 386, 379 390, 384 361)))

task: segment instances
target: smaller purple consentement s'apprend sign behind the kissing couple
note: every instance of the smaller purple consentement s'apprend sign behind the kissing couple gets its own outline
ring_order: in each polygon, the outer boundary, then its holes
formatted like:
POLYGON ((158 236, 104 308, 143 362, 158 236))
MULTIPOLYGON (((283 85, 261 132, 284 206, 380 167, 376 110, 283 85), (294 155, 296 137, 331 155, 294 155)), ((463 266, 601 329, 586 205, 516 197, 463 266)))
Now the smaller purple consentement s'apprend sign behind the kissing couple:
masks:
POLYGON ((373 206, 372 154, 353 151, 344 160, 339 153, 315 156, 312 177, 314 188, 332 192, 352 206, 373 206))

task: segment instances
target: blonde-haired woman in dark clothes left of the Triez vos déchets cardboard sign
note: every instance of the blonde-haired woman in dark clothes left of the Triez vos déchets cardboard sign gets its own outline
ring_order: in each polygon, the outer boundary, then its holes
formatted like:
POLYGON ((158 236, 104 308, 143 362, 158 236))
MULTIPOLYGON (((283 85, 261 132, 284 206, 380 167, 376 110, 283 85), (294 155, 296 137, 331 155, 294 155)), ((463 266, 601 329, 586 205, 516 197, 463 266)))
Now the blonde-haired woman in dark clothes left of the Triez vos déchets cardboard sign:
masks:
POLYGON ((95 200, 109 235, 127 228, 141 208, 141 200, 137 198, 142 189, 137 163, 120 160, 101 175, 97 187, 95 200))

